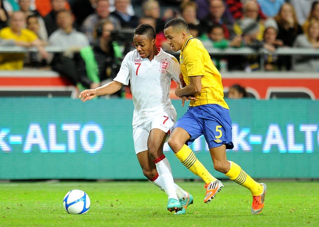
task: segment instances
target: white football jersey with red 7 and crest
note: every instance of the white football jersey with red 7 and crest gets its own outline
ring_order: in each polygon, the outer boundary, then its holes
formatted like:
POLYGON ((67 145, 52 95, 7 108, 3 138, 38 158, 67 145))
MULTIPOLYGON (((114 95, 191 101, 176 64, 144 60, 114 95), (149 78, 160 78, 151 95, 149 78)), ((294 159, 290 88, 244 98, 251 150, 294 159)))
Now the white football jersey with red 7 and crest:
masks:
POLYGON ((171 80, 179 82, 180 66, 177 59, 159 48, 152 61, 141 58, 137 50, 129 52, 122 61, 115 81, 124 85, 131 82, 134 103, 133 126, 146 118, 167 113, 175 121, 176 111, 169 98, 171 80))

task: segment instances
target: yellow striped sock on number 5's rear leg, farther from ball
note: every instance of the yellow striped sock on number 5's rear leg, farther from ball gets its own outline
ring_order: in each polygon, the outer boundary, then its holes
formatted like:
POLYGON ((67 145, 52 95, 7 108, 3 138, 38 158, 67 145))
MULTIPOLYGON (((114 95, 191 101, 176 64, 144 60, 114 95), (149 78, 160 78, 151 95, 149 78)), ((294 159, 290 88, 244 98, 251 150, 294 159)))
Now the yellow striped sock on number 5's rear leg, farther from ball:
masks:
POLYGON ((253 196, 259 196, 263 192, 263 186, 253 180, 239 165, 230 161, 230 170, 225 174, 230 180, 248 188, 253 196))

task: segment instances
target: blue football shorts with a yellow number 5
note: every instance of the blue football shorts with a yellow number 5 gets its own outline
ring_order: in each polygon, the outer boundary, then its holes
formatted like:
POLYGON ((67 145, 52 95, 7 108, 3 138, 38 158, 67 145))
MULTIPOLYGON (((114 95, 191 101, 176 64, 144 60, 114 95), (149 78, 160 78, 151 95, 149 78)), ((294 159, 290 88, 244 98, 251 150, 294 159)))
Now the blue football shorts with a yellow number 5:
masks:
POLYGON ((175 127, 181 127, 188 132, 190 139, 186 145, 204 135, 209 148, 226 145, 232 149, 232 127, 229 110, 217 104, 207 104, 197 107, 188 107, 187 112, 177 120, 175 127))

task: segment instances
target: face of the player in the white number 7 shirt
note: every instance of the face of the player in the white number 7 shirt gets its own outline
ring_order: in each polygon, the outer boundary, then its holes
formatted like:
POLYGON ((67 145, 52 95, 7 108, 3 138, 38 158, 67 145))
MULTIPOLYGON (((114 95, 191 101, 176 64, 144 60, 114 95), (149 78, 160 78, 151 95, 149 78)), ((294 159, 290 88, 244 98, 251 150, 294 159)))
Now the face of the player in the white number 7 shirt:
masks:
POLYGON ((155 55, 155 39, 149 39, 146 35, 134 35, 135 48, 139 52, 141 58, 152 60, 155 55))

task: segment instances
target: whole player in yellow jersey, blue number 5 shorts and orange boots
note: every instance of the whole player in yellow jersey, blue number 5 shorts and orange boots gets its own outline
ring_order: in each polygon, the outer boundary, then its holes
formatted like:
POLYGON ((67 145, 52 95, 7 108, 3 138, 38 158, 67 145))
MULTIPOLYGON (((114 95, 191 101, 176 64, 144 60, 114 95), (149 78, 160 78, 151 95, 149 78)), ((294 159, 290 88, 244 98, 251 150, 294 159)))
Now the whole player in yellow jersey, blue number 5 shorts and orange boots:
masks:
POLYGON ((209 53, 201 41, 191 36, 183 19, 168 21, 164 26, 164 34, 170 48, 180 50, 184 85, 182 88, 177 86, 175 94, 182 98, 182 106, 185 100, 190 99, 187 112, 176 122, 170 134, 170 148, 186 168, 205 182, 204 203, 209 203, 224 186, 207 171, 187 146, 204 135, 214 169, 249 189, 253 196, 251 214, 260 214, 264 208, 266 184, 254 181, 239 165, 228 161, 226 157, 226 149, 233 148, 231 118, 224 101, 221 76, 209 53))

